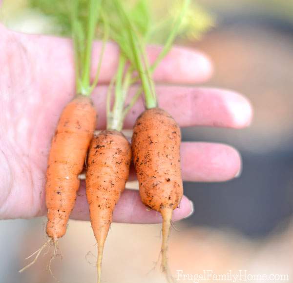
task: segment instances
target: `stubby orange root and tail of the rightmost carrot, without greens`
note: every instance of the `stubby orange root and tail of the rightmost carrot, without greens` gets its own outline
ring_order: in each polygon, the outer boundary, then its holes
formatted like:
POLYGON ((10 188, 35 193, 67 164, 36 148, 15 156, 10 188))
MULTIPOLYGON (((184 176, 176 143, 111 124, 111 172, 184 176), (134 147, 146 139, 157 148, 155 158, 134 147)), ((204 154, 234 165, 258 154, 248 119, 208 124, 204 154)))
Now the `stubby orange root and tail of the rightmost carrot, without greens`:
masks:
POLYGON ((183 195, 180 140, 176 121, 160 108, 145 110, 134 125, 132 154, 140 196, 147 207, 162 214, 161 268, 168 280, 167 239, 172 212, 183 195))

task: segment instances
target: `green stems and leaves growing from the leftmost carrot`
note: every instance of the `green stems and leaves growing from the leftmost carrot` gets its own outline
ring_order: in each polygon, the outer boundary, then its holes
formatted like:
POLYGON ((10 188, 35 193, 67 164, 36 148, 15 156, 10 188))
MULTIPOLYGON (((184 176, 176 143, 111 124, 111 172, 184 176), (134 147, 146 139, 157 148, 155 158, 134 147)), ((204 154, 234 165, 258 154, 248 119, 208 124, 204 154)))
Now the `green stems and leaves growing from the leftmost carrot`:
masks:
POLYGON ((102 15, 103 0, 29 0, 31 8, 38 9, 45 15, 51 16, 58 24, 59 34, 71 36, 74 45, 74 61, 76 72, 76 94, 89 96, 99 80, 102 57, 105 49, 107 33, 105 19, 102 15), (94 39, 97 37, 97 26, 103 28, 102 52, 98 63, 97 73, 91 83, 91 55, 94 39))

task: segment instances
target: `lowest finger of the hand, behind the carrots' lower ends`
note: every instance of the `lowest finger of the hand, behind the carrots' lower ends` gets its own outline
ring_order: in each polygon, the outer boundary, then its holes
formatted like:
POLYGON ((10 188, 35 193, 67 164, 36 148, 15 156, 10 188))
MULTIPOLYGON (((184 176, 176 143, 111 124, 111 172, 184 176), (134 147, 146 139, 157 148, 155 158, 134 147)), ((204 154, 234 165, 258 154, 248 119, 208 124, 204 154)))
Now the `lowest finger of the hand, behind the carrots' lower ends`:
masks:
MULTIPOLYGON (((180 207, 173 212, 173 221, 187 217, 193 212, 193 205, 186 196, 183 196, 180 207)), ((85 197, 84 187, 79 190, 74 210, 70 216, 77 220, 89 220, 88 203, 85 197)), ((159 212, 149 210, 142 203, 137 190, 126 189, 119 199, 114 213, 113 222, 123 223, 160 223, 162 217, 159 212)))

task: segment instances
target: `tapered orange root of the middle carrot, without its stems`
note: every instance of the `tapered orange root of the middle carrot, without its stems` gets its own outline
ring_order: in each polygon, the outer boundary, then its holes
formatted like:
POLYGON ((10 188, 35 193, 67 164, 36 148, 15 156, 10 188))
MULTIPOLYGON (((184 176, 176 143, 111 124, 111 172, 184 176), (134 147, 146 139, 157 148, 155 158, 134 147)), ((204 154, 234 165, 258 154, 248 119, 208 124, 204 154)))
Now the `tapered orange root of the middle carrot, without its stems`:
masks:
POLYGON ((112 214, 129 175, 131 147, 116 130, 102 131, 90 145, 86 171, 86 197, 90 222, 98 243, 98 283, 101 282, 105 239, 112 214))

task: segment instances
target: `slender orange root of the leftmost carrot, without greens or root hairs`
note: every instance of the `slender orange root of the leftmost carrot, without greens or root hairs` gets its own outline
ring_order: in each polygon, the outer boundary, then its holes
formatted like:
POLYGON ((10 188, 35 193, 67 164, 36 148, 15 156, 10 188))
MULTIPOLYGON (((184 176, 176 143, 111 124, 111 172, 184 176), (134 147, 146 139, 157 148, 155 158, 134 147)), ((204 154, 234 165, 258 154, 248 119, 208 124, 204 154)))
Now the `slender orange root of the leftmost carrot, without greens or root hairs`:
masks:
POLYGON ((46 174, 47 235, 54 243, 66 232, 73 210, 78 175, 83 170, 86 152, 96 125, 96 110, 84 95, 74 98, 63 109, 52 139, 46 174))

